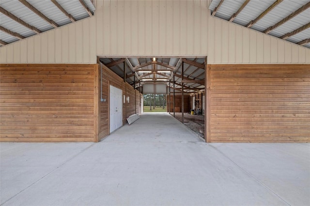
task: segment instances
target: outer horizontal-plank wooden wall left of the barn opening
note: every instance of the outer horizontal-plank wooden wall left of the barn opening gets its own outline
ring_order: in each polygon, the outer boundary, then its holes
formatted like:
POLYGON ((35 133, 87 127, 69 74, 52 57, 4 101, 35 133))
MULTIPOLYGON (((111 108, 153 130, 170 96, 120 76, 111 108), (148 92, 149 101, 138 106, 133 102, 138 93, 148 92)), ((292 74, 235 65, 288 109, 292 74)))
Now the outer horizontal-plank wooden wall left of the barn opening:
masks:
POLYGON ((2 142, 93 142, 96 64, 0 64, 2 142))

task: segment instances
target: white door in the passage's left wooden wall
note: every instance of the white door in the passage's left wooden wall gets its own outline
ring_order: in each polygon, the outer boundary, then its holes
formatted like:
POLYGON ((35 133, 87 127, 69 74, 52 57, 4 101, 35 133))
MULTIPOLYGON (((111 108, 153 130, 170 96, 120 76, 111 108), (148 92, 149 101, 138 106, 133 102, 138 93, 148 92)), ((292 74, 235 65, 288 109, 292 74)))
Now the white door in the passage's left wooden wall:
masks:
POLYGON ((110 132, 123 126, 123 92, 110 85, 110 132))

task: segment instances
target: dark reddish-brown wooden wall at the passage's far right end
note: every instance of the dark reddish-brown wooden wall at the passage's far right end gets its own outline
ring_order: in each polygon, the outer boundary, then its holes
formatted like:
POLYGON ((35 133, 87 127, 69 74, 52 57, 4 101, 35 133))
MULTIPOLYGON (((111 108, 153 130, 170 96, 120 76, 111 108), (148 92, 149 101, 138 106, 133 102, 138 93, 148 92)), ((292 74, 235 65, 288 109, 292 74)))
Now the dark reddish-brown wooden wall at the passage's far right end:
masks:
MULTIPOLYGON (((167 95, 167 112, 173 112, 173 95, 167 95), (170 100, 170 101, 169 101, 170 100)), ((175 112, 182 112, 182 95, 175 95, 174 107, 176 108, 175 112)), ((190 112, 190 95, 184 95, 184 113, 190 112)))

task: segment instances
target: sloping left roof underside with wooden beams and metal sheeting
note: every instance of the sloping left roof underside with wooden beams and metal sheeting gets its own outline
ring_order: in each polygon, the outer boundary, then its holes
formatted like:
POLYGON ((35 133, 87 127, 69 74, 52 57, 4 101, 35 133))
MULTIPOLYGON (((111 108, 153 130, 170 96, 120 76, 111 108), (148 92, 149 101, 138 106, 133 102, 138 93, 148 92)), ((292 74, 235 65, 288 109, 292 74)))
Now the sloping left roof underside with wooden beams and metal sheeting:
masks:
POLYGON ((1 0, 0 45, 93 16, 93 0, 1 0))

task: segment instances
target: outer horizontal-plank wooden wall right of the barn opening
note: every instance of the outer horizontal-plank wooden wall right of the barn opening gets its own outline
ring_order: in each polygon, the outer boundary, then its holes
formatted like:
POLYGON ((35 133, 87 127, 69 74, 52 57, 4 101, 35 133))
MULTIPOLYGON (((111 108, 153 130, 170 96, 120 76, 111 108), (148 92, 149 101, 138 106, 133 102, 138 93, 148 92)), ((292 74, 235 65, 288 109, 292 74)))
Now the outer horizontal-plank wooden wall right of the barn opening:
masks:
POLYGON ((207 69, 207 142, 310 142, 310 64, 207 69))

